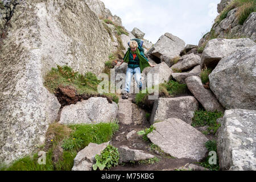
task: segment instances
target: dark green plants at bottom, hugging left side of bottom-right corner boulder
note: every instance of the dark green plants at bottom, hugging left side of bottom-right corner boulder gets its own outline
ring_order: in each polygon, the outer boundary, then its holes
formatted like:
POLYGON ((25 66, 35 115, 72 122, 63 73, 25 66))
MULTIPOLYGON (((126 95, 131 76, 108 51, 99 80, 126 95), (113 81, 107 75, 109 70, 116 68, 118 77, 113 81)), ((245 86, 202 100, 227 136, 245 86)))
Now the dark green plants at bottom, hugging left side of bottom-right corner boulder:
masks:
MULTIPOLYGON (((205 147, 207 148, 208 152, 214 151, 217 154, 217 144, 216 140, 209 140, 207 143, 205 143, 205 147)), ((207 158, 204 160, 204 162, 197 163, 200 164, 202 167, 210 169, 210 171, 218 171, 220 169, 219 162, 218 162, 218 155, 217 155, 217 161, 216 164, 209 164, 209 160, 212 156, 207 156, 207 158)))

